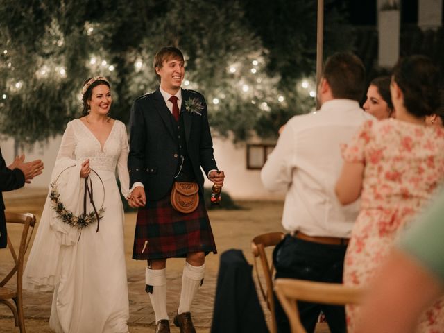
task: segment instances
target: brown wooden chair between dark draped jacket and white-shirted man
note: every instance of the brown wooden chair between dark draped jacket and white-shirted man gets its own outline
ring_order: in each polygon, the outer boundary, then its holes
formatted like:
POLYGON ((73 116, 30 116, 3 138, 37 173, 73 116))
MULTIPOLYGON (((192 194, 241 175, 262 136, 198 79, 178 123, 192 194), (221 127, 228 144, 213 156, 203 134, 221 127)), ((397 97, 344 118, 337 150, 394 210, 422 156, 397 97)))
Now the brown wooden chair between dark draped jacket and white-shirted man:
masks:
POLYGON ((264 301, 268 309, 271 311, 271 333, 275 333, 278 331, 278 327, 276 326, 276 318, 275 318, 275 302, 273 299, 273 272, 274 266, 273 261, 271 264, 268 264, 268 259, 266 257, 265 248, 268 246, 275 246, 278 244, 281 239, 284 237, 283 232, 269 232, 267 234, 260 234, 253 238, 251 241, 251 252, 253 253, 253 258, 255 259, 255 270, 257 275, 257 281, 259 282, 259 288, 261 290, 262 296, 264 297, 264 301), (262 264, 262 271, 264 272, 265 284, 266 287, 262 285, 262 282, 259 278, 259 268, 257 264, 257 257, 260 258, 260 262, 262 264))

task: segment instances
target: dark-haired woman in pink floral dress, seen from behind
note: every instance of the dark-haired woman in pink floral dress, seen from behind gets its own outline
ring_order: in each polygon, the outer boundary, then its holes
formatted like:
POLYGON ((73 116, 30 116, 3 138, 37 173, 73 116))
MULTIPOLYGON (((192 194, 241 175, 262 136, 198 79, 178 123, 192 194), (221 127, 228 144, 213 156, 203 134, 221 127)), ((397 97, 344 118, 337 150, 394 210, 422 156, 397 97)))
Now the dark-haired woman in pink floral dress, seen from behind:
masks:
MULTIPOLYGON (((336 196, 346 205, 361 197, 344 262, 344 284, 367 287, 400 231, 422 209, 444 176, 444 129, 426 126, 438 107, 438 69, 425 56, 409 56, 393 69, 396 118, 368 121, 343 150, 336 196)), ((443 332, 442 307, 423 317, 420 332, 443 332)), ((348 306, 348 332, 359 308, 348 306)))

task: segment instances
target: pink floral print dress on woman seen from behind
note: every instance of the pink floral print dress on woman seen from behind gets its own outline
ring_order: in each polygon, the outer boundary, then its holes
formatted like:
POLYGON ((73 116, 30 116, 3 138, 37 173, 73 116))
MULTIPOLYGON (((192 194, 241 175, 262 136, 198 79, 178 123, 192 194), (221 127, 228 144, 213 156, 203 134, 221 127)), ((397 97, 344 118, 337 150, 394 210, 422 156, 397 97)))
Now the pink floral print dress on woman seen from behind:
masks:
MULTIPOLYGON (((444 130, 396 119, 367 121, 343 147, 348 162, 364 162, 361 211, 345 255, 344 284, 368 286, 396 237, 444 177, 444 130)), ((390 297, 389 295, 387 297, 390 297)), ((359 307, 347 306, 348 332, 359 307)), ((444 301, 420 320, 418 332, 444 332, 444 301)))

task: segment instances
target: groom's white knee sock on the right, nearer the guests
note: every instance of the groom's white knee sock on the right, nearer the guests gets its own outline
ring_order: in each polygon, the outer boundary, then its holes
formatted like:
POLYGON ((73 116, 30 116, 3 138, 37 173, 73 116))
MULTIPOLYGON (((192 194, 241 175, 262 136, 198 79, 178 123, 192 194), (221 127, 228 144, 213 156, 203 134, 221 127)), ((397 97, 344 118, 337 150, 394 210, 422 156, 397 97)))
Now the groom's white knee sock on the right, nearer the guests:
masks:
POLYGON ((180 303, 178 314, 189 312, 191 309, 191 302, 196 295, 200 281, 205 274, 205 264, 202 266, 191 266, 185 262, 185 267, 182 273, 182 290, 180 291, 180 303))

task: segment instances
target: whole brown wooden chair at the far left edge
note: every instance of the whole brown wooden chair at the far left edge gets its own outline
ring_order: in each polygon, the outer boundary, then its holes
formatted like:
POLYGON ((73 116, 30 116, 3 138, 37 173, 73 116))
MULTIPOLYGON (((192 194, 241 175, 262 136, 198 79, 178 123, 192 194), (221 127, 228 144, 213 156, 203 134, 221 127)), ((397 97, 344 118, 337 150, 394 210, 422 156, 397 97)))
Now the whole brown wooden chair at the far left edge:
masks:
POLYGON ((21 224, 23 225, 23 228, 22 237, 20 239, 20 245, 18 248, 18 256, 8 234, 8 248, 12 258, 14 259, 14 266, 0 282, 0 303, 3 303, 10 308, 12 314, 14 314, 15 326, 19 326, 21 333, 25 333, 22 297, 23 264, 26 250, 28 249, 29 242, 31 241, 31 237, 33 235, 35 216, 30 213, 19 214, 11 212, 5 212, 5 215, 7 225, 12 223, 21 224), (12 277, 14 275, 16 275, 17 280, 15 286, 12 284, 12 277), (8 284, 8 282, 10 283, 8 284), (5 287, 6 284, 8 284, 8 287, 5 287), (11 299, 14 300, 15 306, 12 302, 10 302, 11 299))

